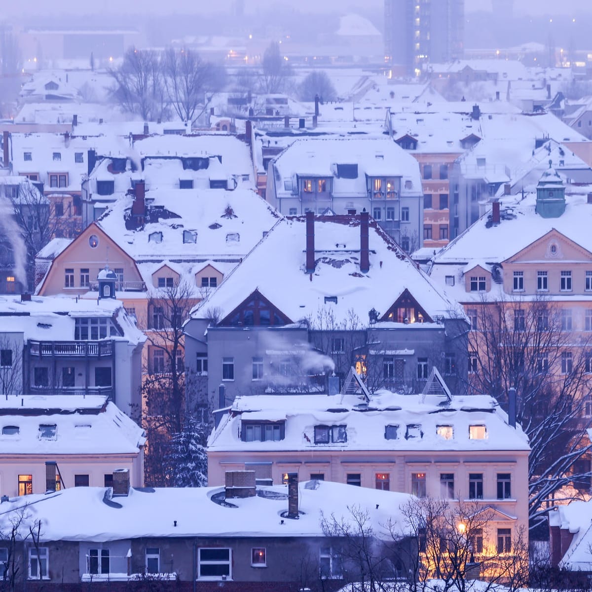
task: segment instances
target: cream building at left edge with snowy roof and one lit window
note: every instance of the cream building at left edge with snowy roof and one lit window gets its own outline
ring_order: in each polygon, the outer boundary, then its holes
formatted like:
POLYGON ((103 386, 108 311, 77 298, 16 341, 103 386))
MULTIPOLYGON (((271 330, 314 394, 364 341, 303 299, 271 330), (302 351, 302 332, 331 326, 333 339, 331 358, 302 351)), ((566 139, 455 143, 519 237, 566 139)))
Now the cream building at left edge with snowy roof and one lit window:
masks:
POLYGON ((115 469, 144 483, 144 432, 103 395, 6 395, 0 423, 3 496, 107 487, 115 469))

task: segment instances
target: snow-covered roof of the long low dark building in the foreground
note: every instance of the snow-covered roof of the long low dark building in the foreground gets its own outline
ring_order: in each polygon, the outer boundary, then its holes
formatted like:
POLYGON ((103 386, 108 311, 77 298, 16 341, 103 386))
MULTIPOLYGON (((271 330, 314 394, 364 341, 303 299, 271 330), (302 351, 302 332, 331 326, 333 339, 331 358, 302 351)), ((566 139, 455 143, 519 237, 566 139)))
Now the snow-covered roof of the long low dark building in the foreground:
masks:
MULTIPOLYGON (((294 537, 324 536, 321 520, 332 514, 353 520, 350 508, 368 511, 377 536, 404 533, 400 508, 411 496, 332 482, 298 484, 298 520, 283 519, 288 487, 258 487, 258 495, 233 498, 223 506, 213 497, 224 488, 131 488, 128 496, 110 498, 103 487, 72 487, 56 493, 13 498, 0 505, 0 517, 27 506, 29 520, 41 519, 42 540, 107 542, 145 537, 294 537), (147 519, 150 517, 150 519, 147 519)), ((26 521, 25 521, 26 522, 26 521)), ((27 524, 24 525, 27 528, 27 524)))

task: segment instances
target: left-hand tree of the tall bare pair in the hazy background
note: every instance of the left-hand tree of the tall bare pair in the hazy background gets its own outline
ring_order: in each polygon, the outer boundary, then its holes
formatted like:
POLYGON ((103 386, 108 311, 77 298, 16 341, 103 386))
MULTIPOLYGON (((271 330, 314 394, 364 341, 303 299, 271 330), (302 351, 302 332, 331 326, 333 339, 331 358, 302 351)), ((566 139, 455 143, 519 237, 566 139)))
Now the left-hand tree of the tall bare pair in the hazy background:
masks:
POLYGON ((130 47, 121 66, 110 71, 115 81, 112 95, 124 111, 148 121, 166 117, 168 102, 161 62, 159 52, 130 47))

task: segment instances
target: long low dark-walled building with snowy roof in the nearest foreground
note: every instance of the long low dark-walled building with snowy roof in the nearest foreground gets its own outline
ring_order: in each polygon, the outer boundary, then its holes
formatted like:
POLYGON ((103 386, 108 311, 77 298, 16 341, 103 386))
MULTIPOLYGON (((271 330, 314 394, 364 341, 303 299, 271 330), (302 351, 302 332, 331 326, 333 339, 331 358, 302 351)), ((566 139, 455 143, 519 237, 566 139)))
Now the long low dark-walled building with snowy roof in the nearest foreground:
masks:
POLYGON ((112 589, 123 582, 134 590, 153 578, 164 589, 170 581, 205 592, 290 592, 303 585, 334 592, 345 584, 345 570, 355 577, 360 567, 346 555, 349 540, 326 536, 323 517, 355 529, 355 506, 368 514, 365 527, 374 529, 375 545, 384 545, 381 575, 406 571, 410 538, 399 508, 410 496, 295 479, 256 487, 252 471, 229 473, 226 488, 130 488, 126 477, 115 471, 109 488, 3 501, 3 516, 18 516, 25 502, 35 512, 22 520, 14 545, 2 538, 0 554, 14 552, 23 579, 41 575, 46 590, 112 589), (43 527, 31 538, 35 520, 43 527), (387 523, 394 537, 382 527, 387 523))

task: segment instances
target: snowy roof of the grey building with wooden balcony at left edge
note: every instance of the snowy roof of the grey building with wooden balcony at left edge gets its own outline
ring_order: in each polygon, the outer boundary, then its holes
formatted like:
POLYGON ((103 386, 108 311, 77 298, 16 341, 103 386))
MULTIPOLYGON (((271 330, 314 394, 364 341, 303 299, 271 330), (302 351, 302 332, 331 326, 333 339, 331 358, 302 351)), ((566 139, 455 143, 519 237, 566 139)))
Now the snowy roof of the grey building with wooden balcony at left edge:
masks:
POLYGON ((146 336, 127 316, 123 305, 112 298, 85 300, 68 297, 32 296, 21 301, 20 296, 0 295, 2 323, 0 333, 22 333, 23 339, 35 341, 73 341, 75 319, 81 317, 110 318, 121 331, 121 336, 111 332, 108 339, 124 340, 137 345, 146 336))

